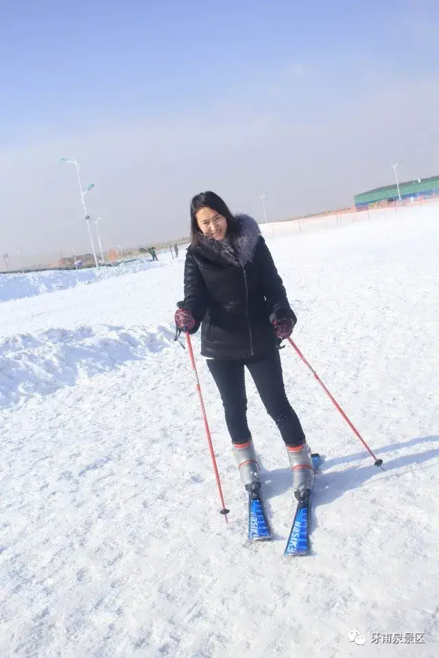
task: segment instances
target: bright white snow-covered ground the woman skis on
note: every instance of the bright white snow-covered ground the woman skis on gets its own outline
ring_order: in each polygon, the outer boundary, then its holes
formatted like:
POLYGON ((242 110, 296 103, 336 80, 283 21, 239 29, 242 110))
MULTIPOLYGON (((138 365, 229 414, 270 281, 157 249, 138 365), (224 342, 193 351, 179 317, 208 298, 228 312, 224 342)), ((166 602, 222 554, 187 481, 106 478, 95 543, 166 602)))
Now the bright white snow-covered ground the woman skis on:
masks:
POLYGON ((287 391, 324 456, 312 554, 282 557, 291 474, 251 380, 274 541, 249 545, 217 392, 198 356, 228 524, 173 340, 184 259, 80 287, 68 273, 67 289, 32 297, 40 282, 24 277, 23 298, 0 304, 2 657, 439 655, 439 212, 270 248, 296 343, 385 472, 285 348, 287 391))

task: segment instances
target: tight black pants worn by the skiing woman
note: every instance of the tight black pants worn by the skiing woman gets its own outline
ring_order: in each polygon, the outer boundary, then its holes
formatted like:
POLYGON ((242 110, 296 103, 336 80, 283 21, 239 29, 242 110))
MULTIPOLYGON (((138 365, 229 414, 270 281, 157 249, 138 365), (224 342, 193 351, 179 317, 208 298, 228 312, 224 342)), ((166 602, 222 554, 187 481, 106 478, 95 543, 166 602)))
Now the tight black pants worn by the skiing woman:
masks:
POLYGON ((213 358, 208 359, 207 365, 219 389, 233 443, 244 443, 251 437, 246 415, 244 367, 248 367, 265 409, 278 426, 285 444, 299 446, 305 441, 300 421, 285 394, 281 357, 278 352, 261 361, 213 358))

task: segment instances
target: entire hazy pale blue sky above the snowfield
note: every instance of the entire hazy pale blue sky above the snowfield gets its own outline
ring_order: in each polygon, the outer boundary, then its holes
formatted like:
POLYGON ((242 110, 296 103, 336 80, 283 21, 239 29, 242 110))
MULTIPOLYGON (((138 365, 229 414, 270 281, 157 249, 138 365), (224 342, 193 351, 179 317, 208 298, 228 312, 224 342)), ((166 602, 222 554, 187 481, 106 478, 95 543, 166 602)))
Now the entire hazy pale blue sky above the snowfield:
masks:
POLYGON ((121 212, 130 243, 147 240, 145 223, 152 241, 184 235, 189 198, 204 186, 248 212, 260 211, 254 199, 268 187, 281 219, 391 182, 389 159, 407 162, 401 178, 438 173, 429 146, 438 28, 430 0, 3 0, 0 173, 10 184, 0 221, 16 217, 8 239, 19 241, 17 227, 28 229, 40 205, 56 244, 73 239, 80 208, 64 173, 51 171, 60 148, 95 181, 91 204, 108 216, 110 242, 121 212), (17 202, 17 180, 29 204, 17 202), (169 185, 176 198, 166 209, 169 185))

